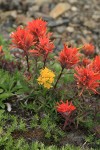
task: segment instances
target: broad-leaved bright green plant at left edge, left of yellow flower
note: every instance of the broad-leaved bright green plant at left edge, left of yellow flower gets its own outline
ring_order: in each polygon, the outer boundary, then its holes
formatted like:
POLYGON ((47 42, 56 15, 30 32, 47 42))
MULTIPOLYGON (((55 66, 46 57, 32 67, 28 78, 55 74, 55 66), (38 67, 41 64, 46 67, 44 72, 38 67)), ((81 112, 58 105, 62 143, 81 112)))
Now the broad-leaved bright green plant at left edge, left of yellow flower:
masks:
POLYGON ((28 85, 18 72, 10 75, 7 71, 0 70, 0 78, 0 107, 4 107, 3 101, 9 97, 29 91, 28 85))

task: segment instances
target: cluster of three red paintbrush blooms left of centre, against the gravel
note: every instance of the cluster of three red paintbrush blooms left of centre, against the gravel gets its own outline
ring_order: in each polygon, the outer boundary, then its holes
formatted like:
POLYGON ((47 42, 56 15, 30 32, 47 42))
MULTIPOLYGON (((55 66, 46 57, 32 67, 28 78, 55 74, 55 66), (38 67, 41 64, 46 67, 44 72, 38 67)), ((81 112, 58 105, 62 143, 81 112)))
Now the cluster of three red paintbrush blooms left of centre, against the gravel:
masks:
POLYGON ((47 22, 36 19, 29 22, 25 28, 18 27, 11 34, 12 46, 24 50, 25 54, 29 52, 33 56, 43 56, 46 59, 54 49, 50 36, 51 33, 47 33, 47 22))

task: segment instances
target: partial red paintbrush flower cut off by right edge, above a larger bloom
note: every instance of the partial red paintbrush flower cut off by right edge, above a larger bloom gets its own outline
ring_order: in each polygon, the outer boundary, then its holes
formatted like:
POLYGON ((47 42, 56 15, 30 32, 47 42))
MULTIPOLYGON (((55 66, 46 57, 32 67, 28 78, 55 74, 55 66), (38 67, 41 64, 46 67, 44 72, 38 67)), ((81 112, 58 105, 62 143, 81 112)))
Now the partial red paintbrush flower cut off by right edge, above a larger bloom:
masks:
POLYGON ((96 56, 92 62, 92 68, 94 72, 100 73, 100 56, 96 56))

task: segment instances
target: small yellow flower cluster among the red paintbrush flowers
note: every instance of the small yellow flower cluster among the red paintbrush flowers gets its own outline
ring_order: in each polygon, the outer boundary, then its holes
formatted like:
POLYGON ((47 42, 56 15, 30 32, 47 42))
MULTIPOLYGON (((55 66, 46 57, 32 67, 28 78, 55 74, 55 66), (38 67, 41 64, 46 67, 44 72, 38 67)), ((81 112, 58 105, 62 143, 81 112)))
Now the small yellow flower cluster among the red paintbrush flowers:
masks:
POLYGON ((45 67, 40 71, 40 76, 37 79, 38 84, 43 85, 45 88, 50 89, 52 87, 52 83, 54 82, 55 74, 53 71, 49 70, 45 67))

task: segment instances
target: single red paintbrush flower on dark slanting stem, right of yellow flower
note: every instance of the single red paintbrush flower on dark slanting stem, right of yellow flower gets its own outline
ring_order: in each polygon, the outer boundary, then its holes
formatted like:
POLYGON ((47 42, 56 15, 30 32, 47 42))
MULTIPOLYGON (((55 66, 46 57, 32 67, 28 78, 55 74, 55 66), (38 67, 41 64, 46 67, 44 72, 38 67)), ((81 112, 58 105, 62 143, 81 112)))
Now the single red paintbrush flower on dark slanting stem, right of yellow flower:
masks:
POLYGON ((77 48, 68 48, 64 44, 64 49, 59 53, 58 57, 62 68, 71 69, 79 61, 79 53, 77 48))

